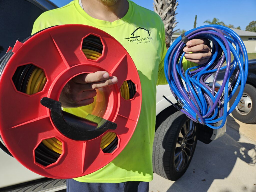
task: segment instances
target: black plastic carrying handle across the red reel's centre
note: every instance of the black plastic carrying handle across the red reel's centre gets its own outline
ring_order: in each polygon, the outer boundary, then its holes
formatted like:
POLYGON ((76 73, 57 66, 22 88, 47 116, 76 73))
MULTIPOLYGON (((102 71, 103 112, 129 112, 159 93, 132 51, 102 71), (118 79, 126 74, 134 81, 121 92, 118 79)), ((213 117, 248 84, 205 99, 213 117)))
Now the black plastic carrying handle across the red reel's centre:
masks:
POLYGON ((51 110, 51 118, 56 128, 66 137, 75 141, 88 141, 102 135, 107 130, 115 130, 117 124, 89 114, 80 118, 61 110, 61 102, 44 97, 41 105, 51 110))

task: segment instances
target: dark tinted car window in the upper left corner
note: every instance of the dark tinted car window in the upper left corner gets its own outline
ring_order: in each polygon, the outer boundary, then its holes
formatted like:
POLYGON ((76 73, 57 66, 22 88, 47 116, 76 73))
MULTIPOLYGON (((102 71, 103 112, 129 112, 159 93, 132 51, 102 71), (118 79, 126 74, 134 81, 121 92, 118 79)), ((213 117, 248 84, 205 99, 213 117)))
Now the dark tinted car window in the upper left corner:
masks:
POLYGON ((23 41, 31 35, 35 20, 43 13, 25 0, 0 0, 0 58, 16 40, 23 41))

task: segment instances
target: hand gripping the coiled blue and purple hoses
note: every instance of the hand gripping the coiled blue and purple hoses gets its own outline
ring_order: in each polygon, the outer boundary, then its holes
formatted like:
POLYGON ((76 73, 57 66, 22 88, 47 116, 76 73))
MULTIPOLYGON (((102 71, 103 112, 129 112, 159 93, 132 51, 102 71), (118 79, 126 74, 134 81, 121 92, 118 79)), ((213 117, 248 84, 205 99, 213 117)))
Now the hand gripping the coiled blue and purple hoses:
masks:
POLYGON ((187 47, 184 47, 183 51, 186 52, 185 57, 188 61, 202 65, 211 57, 211 46, 208 39, 193 39, 186 45, 187 47))

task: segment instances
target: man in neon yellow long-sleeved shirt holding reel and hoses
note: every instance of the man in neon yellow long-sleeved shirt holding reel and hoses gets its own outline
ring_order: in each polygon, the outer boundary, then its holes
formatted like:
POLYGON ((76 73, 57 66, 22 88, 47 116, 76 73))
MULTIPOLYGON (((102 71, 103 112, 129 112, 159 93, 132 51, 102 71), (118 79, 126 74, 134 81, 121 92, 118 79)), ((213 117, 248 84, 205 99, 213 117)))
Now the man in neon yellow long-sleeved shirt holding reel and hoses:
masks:
MULTIPOLYGON (((128 145, 97 172, 67 180, 67 191, 148 191, 153 179, 156 85, 167 83, 163 69, 167 50, 161 18, 129 0, 74 0, 43 13, 36 20, 32 34, 64 24, 90 25, 112 35, 132 57, 142 86, 141 115, 128 145)), ((188 52, 187 60, 199 64, 207 62, 211 56, 207 43, 208 40, 203 39, 188 41, 188 47, 184 48, 188 52), (189 53, 191 51, 195 53, 189 53)), ((67 83, 60 102, 65 108, 89 105, 94 101, 95 89, 117 82, 116 77, 110 78, 104 71, 82 74, 67 83)))

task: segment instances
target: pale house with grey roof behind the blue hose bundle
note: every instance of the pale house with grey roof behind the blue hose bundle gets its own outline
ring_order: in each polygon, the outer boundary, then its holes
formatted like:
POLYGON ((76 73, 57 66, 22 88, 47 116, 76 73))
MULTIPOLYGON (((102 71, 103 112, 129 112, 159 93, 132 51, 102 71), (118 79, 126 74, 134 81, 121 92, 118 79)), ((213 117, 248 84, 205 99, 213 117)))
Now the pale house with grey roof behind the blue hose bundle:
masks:
MULTIPOLYGON (((241 37, 246 47, 247 53, 256 53, 256 33, 251 31, 243 31, 239 29, 232 29, 232 30, 241 37)), ((180 35, 173 35, 171 43, 173 43, 179 36, 180 35)))

